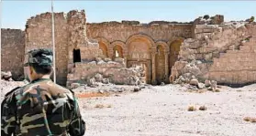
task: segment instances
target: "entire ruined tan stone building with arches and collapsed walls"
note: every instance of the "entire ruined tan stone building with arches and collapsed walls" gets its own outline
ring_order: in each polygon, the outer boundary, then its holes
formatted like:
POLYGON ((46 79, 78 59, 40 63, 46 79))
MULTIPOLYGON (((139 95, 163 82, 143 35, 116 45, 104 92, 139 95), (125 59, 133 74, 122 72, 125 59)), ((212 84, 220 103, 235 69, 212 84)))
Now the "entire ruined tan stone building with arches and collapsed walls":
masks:
MULTIPOLYGON (((145 68, 150 84, 194 77, 225 84, 255 82, 255 32, 255 24, 225 24, 223 16, 140 24, 86 23, 84 11, 55 13, 57 82, 70 85, 102 73, 122 84, 120 80, 134 74, 127 68, 135 65, 145 68)), ((2 69, 18 69, 17 75, 22 75, 24 52, 52 47, 51 14, 29 18, 25 32, 2 29, 1 36, 2 69)))

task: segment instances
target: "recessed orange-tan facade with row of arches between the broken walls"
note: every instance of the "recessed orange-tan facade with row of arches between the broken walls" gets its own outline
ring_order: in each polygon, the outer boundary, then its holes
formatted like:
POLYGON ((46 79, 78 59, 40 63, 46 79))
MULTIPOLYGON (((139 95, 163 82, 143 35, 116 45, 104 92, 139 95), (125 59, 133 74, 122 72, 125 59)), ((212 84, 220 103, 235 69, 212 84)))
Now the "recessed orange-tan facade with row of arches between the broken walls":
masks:
POLYGON ((193 24, 153 21, 139 24, 137 21, 87 24, 87 36, 99 41, 105 57, 125 58, 127 66, 145 65, 147 82, 168 82, 185 38, 192 37, 193 24), (162 70, 163 69, 163 70, 162 70))

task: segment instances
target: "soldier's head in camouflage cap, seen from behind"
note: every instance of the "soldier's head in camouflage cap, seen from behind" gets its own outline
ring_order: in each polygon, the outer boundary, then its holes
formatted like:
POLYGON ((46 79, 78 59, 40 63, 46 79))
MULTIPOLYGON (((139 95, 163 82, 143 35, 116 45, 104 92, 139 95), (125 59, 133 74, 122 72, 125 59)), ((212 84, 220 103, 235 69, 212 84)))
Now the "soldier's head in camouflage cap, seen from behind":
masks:
POLYGON ((25 78, 33 81, 52 72, 52 51, 47 48, 30 50, 25 58, 25 78))

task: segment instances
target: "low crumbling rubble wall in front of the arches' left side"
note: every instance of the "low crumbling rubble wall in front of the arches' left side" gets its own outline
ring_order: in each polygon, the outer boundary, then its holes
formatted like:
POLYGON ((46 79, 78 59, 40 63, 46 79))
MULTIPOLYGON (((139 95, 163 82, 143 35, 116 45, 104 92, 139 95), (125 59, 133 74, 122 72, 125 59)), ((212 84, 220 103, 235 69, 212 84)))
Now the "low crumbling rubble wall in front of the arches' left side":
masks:
POLYGON ((110 82, 115 84, 128 84, 130 76, 138 76, 139 73, 132 68, 126 68, 124 59, 122 61, 102 60, 96 58, 95 61, 87 63, 75 63, 72 73, 68 75, 67 86, 79 82, 81 84, 90 84, 91 78, 96 74, 103 75, 110 82))

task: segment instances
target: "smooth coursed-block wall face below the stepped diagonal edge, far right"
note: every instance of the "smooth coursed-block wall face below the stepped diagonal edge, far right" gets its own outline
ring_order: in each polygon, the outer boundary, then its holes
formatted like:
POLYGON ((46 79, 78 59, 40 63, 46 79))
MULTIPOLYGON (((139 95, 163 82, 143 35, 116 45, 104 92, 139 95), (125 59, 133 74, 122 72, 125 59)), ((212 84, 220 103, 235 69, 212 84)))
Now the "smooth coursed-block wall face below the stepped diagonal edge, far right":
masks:
POLYGON ((209 78, 231 86, 256 82, 256 27, 252 38, 244 41, 239 49, 230 49, 220 58, 214 58, 209 78))

